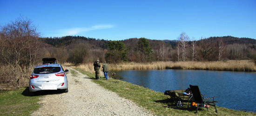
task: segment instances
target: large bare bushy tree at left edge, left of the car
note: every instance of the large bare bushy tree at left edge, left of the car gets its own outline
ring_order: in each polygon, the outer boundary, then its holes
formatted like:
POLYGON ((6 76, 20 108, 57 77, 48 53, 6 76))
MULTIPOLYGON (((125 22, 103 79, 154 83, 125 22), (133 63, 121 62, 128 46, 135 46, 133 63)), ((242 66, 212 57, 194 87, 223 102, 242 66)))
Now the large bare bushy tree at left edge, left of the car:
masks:
POLYGON ((37 57, 40 33, 30 19, 22 16, 0 28, 0 58, 12 67, 10 80, 24 79, 26 69, 31 68, 37 57))

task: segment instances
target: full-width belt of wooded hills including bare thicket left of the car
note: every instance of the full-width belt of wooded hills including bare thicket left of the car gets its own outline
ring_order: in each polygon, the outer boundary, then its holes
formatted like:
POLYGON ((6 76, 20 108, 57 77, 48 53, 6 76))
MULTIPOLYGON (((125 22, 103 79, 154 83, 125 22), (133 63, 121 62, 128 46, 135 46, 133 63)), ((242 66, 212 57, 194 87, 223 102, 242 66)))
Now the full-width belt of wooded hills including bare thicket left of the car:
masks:
POLYGON ((58 63, 108 63, 155 61, 252 60, 256 64, 256 39, 232 36, 191 39, 182 32, 176 40, 131 38, 104 40, 83 36, 41 38, 30 19, 22 17, 0 26, 0 84, 26 84, 42 58, 58 63))

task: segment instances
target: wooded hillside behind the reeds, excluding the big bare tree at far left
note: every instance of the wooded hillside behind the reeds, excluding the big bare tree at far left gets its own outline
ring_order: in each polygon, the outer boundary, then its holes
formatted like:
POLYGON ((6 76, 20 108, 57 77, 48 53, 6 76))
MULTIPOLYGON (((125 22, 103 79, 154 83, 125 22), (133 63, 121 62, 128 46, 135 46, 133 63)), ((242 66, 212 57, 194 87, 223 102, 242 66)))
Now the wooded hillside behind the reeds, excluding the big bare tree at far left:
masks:
POLYGON ((53 51, 59 49, 68 54, 66 58, 62 56, 61 62, 74 64, 94 62, 97 58, 108 63, 249 60, 256 53, 256 39, 224 36, 191 40, 184 32, 177 40, 111 41, 83 36, 40 39, 47 46, 49 57, 60 58, 53 51))

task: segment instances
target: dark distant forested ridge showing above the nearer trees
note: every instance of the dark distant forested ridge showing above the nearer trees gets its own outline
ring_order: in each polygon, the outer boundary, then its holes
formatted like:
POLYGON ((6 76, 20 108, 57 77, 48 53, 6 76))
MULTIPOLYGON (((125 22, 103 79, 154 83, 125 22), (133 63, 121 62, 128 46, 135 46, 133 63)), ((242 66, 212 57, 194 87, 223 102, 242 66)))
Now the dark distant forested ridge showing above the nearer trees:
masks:
MULTIPOLYGON (((223 37, 210 37, 208 39, 223 39, 224 43, 227 45, 232 44, 245 44, 245 45, 256 45, 256 39, 250 39, 250 38, 236 38, 232 36, 223 36, 223 37)), ((75 45, 79 44, 81 42, 88 43, 90 47, 98 47, 102 49, 107 49, 108 40, 104 39, 95 39, 95 38, 87 38, 83 36, 65 36, 65 37, 54 37, 54 38, 42 38, 44 42, 48 45, 53 45, 55 47, 59 46, 69 46, 69 45, 75 45)), ((161 41, 164 41, 165 43, 168 43, 172 45, 173 47, 176 45, 178 40, 152 40, 148 39, 150 41, 150 45, 154 45, 155 43, 158 44, 161 41)), ((137 38, 131 38, 131 39, 125 39, 120 40, 125 45, 135 45, 138 41, 137 38)), ((199 41, 199 40, 197 40, 199 41)))

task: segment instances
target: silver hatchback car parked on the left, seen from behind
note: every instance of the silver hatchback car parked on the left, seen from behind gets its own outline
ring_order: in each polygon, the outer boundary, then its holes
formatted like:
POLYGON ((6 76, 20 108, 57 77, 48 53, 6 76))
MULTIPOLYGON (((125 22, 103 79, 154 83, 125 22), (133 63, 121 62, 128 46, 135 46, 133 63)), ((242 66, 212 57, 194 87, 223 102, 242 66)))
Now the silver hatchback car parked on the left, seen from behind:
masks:
POLYGON ((34 68, 29 80, 29 91, 39 90, 63 90, 68 92, 67 76, 68 70, 63 70, 61 64, 43 64, 34 68))

